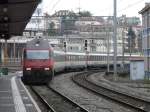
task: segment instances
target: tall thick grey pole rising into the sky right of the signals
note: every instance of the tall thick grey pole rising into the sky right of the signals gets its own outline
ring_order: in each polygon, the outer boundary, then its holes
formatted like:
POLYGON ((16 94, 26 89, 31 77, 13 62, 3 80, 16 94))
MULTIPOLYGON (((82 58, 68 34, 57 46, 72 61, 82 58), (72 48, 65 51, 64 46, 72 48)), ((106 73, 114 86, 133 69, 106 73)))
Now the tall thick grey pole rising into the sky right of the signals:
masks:
POLYGON ((114 80, 117 80, 117 0, 114 0, 114 34, 113 34, 113 47, 114 47, 114 80))

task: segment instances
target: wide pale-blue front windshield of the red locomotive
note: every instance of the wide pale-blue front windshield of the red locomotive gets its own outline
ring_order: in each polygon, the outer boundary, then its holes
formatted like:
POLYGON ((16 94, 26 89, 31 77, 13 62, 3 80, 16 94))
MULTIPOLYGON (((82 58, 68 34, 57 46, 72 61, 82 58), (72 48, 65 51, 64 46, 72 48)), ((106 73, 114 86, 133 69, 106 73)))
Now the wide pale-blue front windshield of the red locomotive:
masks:
POLYGON ((49 50, 27 50, 26 58, 27 59, 49 59, 50 53, 49 50))

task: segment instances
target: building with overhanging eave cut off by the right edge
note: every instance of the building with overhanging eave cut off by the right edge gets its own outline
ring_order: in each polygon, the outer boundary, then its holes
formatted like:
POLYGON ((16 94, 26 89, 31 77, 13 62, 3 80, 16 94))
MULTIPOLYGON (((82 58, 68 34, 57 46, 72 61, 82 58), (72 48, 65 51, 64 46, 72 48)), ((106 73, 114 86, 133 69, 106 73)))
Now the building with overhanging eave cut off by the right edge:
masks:
POLYGON ((142 48, 144 53, 145 77, 150 79, 150 3, 139 12, 142 15, 142 48))

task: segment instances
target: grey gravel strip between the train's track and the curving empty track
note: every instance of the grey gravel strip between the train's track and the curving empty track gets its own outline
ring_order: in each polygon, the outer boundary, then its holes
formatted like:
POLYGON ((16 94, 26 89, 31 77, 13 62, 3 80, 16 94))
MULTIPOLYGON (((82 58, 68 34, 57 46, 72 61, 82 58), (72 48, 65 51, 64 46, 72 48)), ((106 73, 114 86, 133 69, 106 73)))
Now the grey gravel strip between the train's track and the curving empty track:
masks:
POLYGON ((50 86, 79 103, 88 109, 89 112, 133 112, 133 110, 79 87, 71 80, 72 75, 74 74, 69 73, 56 76, 50 86))

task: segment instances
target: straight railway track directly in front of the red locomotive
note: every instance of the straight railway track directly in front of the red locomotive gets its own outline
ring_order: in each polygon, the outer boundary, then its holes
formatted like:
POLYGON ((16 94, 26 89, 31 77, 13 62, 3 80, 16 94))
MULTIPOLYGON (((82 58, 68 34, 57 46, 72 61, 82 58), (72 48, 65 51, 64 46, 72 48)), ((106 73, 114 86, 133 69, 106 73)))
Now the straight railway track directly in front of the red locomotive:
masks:
POLYGON ((31 86, 31 89, 47 107, 48 112, 88 112, 49 86, 31 86))

